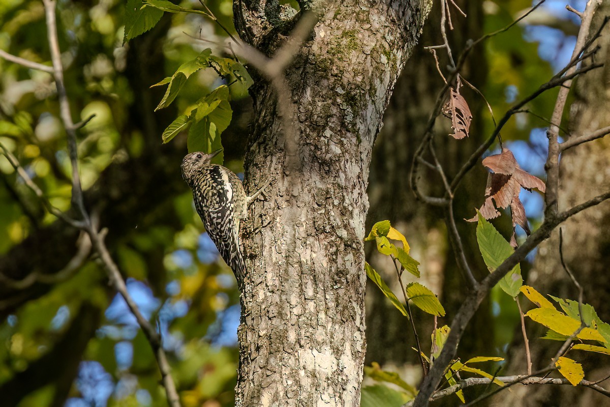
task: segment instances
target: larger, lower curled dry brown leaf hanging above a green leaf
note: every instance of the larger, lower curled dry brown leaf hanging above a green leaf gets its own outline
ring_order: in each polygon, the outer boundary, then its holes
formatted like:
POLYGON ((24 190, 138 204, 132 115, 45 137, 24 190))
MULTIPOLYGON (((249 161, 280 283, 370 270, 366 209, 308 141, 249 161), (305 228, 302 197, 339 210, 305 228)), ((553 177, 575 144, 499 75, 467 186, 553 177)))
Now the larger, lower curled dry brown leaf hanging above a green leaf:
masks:
MULTIPOLYGON (((515 156, 506 148, 502 149, 501 154, 495 154, 484 159, 483 165, 493 172, 487 176, 485 202, 479 212, 484 218, 493 219, 500 215, 500 212, 496 209, 497 207, 504 209, 510 206, 512 216, 511 245, 516 247, 516 225, 521 226, 528 235, 531 233, 525 208, 519 200, 519 192, 522 188, 530 192, 534 188, 540 192, 545 192, 546 185, 542 182, 542 179, 523 171, 517 164, 515 156), (495 207, 492 200, 495 202, 495 207)), ((472 219, 467 220, 468 222, 476 222, 478 216, 475 215, 472 219)))

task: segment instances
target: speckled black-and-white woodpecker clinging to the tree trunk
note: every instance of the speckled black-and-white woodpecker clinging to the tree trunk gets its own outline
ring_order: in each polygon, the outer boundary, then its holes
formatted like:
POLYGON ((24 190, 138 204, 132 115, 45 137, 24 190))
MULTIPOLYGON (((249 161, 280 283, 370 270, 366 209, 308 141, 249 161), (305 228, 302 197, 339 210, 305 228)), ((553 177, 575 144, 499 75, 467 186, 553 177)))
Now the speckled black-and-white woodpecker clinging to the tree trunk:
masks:
POLYGON ((182 160, 182 178, 193 190, 195 209, 207 234, 218 248, 237 281, 242 283, 246 265, 239 242, 239 226, 248 217, 248 206, 267 187, 265 184, 252 196, 246 194, 242 181, 229 168, 211 164, 222 149, 206 154, 187 154, 182 160))

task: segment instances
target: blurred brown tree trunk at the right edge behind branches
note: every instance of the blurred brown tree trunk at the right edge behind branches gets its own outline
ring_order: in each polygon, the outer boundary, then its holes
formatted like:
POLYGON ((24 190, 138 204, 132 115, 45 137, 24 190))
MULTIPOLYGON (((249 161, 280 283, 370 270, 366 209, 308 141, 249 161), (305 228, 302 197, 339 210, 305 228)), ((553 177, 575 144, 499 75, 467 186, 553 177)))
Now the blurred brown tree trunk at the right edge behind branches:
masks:
MULTIPOLYGON (((610 15, 610 3, 598 9, 592 32, 596 32, 605 16, 610 15)), ((589 134, 610 125, 610 27, 606 26, 595 62, 605 66, 580 77, 575 84, 575 102, 570 108, 569 131, 574 137, 589 134)), ((559 211, 582 203, 610 190, 610 139, 576 146, 561 157, 559 211)), ((576 279, 584 288, 584 302, 592 304, 602 320, 610 322, 610 202, 601 203, 567 220, 563 225, 564 258, 576 279)), ((559 262, 559 232, 540 245, 527 283, 542 293, 578 300, 578 290, 559 262)), ((538 339, 545 330, 526 321, 534 369, 546 366, 559 348, 558 342, 538 339)), ((608 376, 610 359, 603 355, 573 351, 570 358, 583 361, 585 378, 595 381, 608 376)), ((515 334, 511 350, 511 365, 506 372, 525 372, 523 339, 515 334)), ((608 386, 608 382, 601 383, 608 386)), ((566 386, 567 387, 567 386, 566 386)), ((503 392, 493 405, 534 406, 605 406, 608 398, 586 388, 540 386, 536 390, 514 386, 512 393, 503 392), (508 400, 508 401, 507 401, 508 400), (507 404, 508 403, 508 404, 507 404)))

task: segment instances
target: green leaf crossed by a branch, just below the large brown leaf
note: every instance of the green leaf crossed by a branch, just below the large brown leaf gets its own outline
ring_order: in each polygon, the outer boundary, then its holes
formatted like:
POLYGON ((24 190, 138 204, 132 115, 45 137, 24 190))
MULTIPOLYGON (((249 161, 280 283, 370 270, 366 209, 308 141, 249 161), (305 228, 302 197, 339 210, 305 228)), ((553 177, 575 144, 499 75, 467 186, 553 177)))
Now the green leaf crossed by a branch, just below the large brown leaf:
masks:
MULTIPOLYGON (((483 260, 493 272, 500 266, 512 253, 514 249, 511 244, 493 227, 493 225, 478 212, 479 223, 476 225, 476 240, 479 243, 479 250, 483 255, 483 260)), ((511 297, 517 297, 519 289, 523 285, 521 276, 521 266, 515 265, 498 283, 500 288, 511 297)))

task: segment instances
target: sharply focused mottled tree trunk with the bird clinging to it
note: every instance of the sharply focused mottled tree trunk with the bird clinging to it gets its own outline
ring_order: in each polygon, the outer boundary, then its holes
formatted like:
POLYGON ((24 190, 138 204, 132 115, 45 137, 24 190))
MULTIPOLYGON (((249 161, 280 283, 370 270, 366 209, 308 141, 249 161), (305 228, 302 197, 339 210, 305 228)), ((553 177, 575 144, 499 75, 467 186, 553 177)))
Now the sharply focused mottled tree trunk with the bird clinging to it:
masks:
MULTIPOLYGON (((371 148, 431 2, 324 4, 310 5, 318 23, 285 73, 292 103, 279 109, 263 81, 252 90, 246 184, 252 192, 274 181, 268 200, 251 208, 244 233, 237 406, 360 402, 371 148), (298 134, 292 170, 286 109, 298 134)), ((276 2, 235 1, 234 10, 240 36, 267 55, 293 26, 276 2)))

